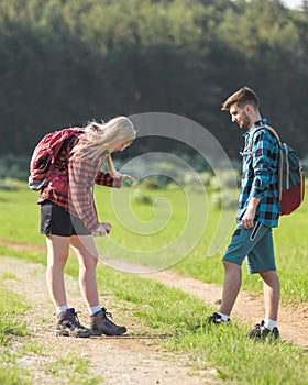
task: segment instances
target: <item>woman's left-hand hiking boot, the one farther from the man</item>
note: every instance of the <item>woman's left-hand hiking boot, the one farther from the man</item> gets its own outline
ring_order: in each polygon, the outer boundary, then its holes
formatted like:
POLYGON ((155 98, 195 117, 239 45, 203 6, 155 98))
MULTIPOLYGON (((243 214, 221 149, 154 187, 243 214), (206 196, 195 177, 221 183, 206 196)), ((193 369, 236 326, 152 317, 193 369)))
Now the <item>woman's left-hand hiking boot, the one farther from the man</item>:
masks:
POLYGON ((90 337, 91 332, 79 322, 77 312, 70 308, 57 315, 56 336, 85 338, 90 337))

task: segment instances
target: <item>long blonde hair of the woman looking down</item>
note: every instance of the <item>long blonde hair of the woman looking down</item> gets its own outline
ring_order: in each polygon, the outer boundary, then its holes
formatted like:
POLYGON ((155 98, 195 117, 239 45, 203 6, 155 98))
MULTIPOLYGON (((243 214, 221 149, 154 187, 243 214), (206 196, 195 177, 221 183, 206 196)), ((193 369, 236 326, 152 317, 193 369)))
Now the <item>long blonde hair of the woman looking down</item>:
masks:
POLYGON ((107 157, 107 165, 113 178, 118 177, 110 152, 120 145, 130 145, 136 132, 133 123, 127 117, 117 117, 107 123, 90 122, 85 127, 86 138, 74 147, 74 154, 81 154, 95 162, 107 157))

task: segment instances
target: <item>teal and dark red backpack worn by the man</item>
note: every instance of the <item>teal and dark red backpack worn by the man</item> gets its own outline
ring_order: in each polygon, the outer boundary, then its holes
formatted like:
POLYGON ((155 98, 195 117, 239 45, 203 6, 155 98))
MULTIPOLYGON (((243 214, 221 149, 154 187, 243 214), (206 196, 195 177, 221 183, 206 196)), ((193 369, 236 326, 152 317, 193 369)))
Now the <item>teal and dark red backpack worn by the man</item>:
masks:
POLYGON ((252 148, 253 136, 256 131, 266 129, 271 131, 278 141, 278 191, 280 216, 287 216, 296 210, 302 202, 305 196, 305 174, 301 162, 296 152, 286 143, 282 143, 277 132, 270 125, 261 125, 252 131, 248 150, 252 148))

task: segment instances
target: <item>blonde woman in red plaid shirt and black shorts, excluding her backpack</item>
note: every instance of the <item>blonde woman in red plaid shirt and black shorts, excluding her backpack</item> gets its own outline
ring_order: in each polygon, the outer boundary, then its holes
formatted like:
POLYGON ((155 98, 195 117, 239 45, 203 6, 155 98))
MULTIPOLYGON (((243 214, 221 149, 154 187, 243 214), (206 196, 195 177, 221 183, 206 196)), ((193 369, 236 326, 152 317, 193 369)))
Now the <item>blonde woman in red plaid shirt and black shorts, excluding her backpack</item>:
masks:
POLYGON ((70 337, 121 336, 125 327, 117 326, 99 304, 96 267, 98 252, 94 233, 103 237, 111 231, 109 222, 99 222, 94 201, 95 184, 122 187, 130 175, 118 174, 111 154, 123 151, 135 139, 132 122, 118 117, 107 123, 92 122, 78 136, 68 139, 55 162, 50 183, 43 188, 41 232, 47 243, 47 287, 56 308, 56 334, 70 337), (101 172, 103 161, 109 172, 101 172), (67 305, 64 267, 69 246, 79 262, 79 285, 90 314, 90 327, 80 324, 74 308, 67 305))

